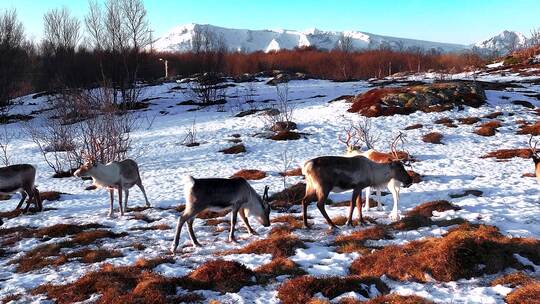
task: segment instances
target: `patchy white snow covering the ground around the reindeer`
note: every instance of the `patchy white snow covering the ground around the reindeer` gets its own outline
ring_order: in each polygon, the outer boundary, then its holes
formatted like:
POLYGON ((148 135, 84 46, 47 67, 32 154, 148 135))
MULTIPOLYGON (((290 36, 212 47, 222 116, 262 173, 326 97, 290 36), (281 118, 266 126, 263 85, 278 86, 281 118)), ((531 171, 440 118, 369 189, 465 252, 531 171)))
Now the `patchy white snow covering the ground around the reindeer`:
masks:
MULTIPOLYGON (((467 77, 468 75, 461 75, 467 77)), ((509 81, 519 80, 517 75, 493 76, 485 75, 486 80, 509 81)), ((416 78, 429 79, 430 75, 416 78)), ((217 111, 217 107, 209 107, 198 111, 187 111, 192 106, 178 106, 178 102, 188 99, 178 90, 171 90, 176 83, 167 83, 159 86, 147 87, 146 97, 157 97, 152 100, 150 110, 139 112, 139 128, 133 132, 133 149, 129 155, 140 166, 142 180, 153 207, 170 207, 184 203, 182 177, 186 174, 195 177, 229 177, 240 169, 259 169, 269 172, 269 176, 259 181, 251 181, 254 188, 262 192, 265 185, 270 186, 270 192, 282 190, 282 178, 277 174, 281 164, 281 154, 284 151, 294 160, 294 167, 300 166, 304 161, 320 155, 340 155, 344 146, 338 141, 338 135, 343 132, 347 120, 355 120, 357 114, 346 112, 348 104, 344 101, 328 103, 328 101, 341 96, 364 92, 370 88, 367 82, 335 83, 324 80, 291 81, 289 83, 289 98, 295 105, 294 121, 301 132, 308 133, 306 138, 296 141, 272 141, 254 137, 261 132, 264 121, 257 115, 236 118, 233 114, 239 111, 234 98, 229 99, 225 111, 217 111), (321 97, 323 96, 323 97, 321 97), (161 113, 160 113, 161 112, 161 113), (166 114, 163 114, 166 113, 166 114), (150 126, 149 120, 156 116, 150 126), (182 145, 186 130, 196 121, 197 139, 202 144, 197 147, 182 145), (238 155, 225 155, 218 151, 231 146, 228 141, 232 134, 240 134, 247 152, 238 155)), ((239 84, 242 86, 245 84, 239 84)), ((516 135, 518 120, 534 122, 538 116, 530 109, 520 105, 513 105, 512 100, 526 100, 536 106, 540 102, 536 98, 525 96, 526 91, 540 92, 540 86, 523 84, 525 88, 512 91, 487 91, 488 104, 475 109, 465 108, 462 111, 454 110, 443 113, 414 113, 408 116, 391 116, 373 118, 372 123, 383 142, 379 143, 381 149, 386 150, 388 139, 397 134, 404 127, 416 123, 424 125, 422 129, 406 131, 407 149, 418 159, 414 163, 414 171, 424 175, 423 182, 414 184, 402 190, 400 208, 401 212, 416 205, 433 200, 445 199, 460 206, 459 211, 447 211, 437 214, 440 218, 461 217, 474 223, 495 225, 509 236, 540 237, 540 187, 536 180, 522 177, 524 173, 532 173, 531 160, 514 158, 508 162, 497 162, 494 159, 480 158, 487 152, 500 148, 523 148, 527 146, 526 135, 516 135), (448 128, 434 124, 433 121, 441 117, 459 118, 466 116, 483 116, 485 114, 503 111, 515 115, 500 117, 503 127, 493 137, 481 137, 473 134, 474 126, 459 125, 458 128, 448 128), (444 134, 444 145, 433 145, 422 142, 422 134, 438 131, 444 134), (483 196, 466 196, 451 199, 450 194, 460 193, 467 189, 483 191, 483 196)), ((259 107, 267 104, 261 102, 276 98, 275 87, 257 82, 254 85, 254 99, 259 101, 259 107)), ((229 88, 229 94, 234 95, 235 88, 229 88)), ((19 100, 22 104, 14 111, 29 113, 36 108, 44 106, 44 99, 32 99, 30 96, 19 100)), ((247 106, 244 106, 247 108, 247 106)), ((62 196, 57 202, 45 202, 45 207, 56 208, 43 213, 23 215, 5 220, 2 228, 16 226, 45 227, 57 223, 99 223, 114 232, 127 232, 126 237, 108 240, 103 246, 114 248, 122 252, 123 257, 107 259, 102 263, 116 265, 133 264, 137 258, 150 258, 158 255, 168 255, 170 243, 173 238, 173 229, 134 231, 130 228, 145 227, 156 224, 167 224, 173 227, 179 213, 174 210, 151 208, 142 211, 152 219, 153 223, 133 219, 128 213, 120 217, 108 218, 108 194, 104 190, 85 191, 90 184, 78 178, 51 178, 52 171, 44 163, 38 148, 23 134, 20 124, 11 124, 10 130, 16 131, 17 136, 12 143, 13 162, 31 163, 38 168, 38 187, 41 191, 60 191, 69 195, 62 196), (146 245, 144 250, 135 250, 130 244, 139 242, 146 245)), ((299 177, 288 178, 289 184, 300 181, 299 177)), ((134 189, 130 193, 130 206, 143 206, 142 194, 134 189)), ((331 199, 342 201, 350 198, 350 193, 332 194, 331 199)), ((388 218, 390 198, 384 197, 386 210, 384 212, 370 211, 368 215, 380 223, 389 223, 388 218)), ((0 211, 15 208, 18 197, 0 203, 0 211)), ((331 217, 347 215, 348 207, 327 208, 331 217)), ((291 212, 299 212, 293 208, 291 212)), ((346 275, 352 261, 358 254, 339 254, 329 244, 336 235, 326 231, 326 223, 316 206, 312 204, 309 214, 315 223, 312 230, 296 230, 294 233, 302 239, 309 239, 307 248, 298 249, 291 259, 312 275, 346 275)), ((272 213, 271 217, 282 214, 272 213)), ((175 263, 162 264, 155 271, 166 276, 181 276, 196 268, 202 262, 217 258, 214 254, 226 249, 240 248, 249 242, 264 238, 269 229, 262 227, 255 220, 252 225, 259 236, 250 237, 245 230, 237 231, 239 244, 227 243, 227 229, 217 233, 214 227, 208 227, 203 220, 195 221, 195 231, 203 248, 185 247, 183 253, 175 256, 175 263)), ((222 224, 223 225, 223 224, 222 224)), ((224 224, 225 227, 227 224, 224 224)), ((240 227, 241 225, 238 225, 240 227)), ((348 234, 353 230, 363 228, 343 227, 337 234, 348 234)), ((184 229, 181 235, 181 244, 190 244, 184 229)), ((425 237, 438 237, 448 231, 448 227, 425 227, 419 230, 399 232, 394 239, 384 241, 384 244, 403 244, 411 240, 425 237)), ((55 239, 49 242, 57 241, 55 239)), ((380 241, 383 242, 383 241, 380 241)), ((60 267, 47 267, 44 269, 16 273, 16 265, 9 262, 38 245, 38 239, 23 239, 8 250, 18 252, 0 258, 0 299, 16 293, 24 293, 40 284, 51 282, 61 284, 73 281, 84 273, 99 268, 101 263, 82 264, 71 262, 60 267)), ((270 255, 242 254, 225 256, 225 259, 235 260, 249 268, 256 268, 268 263, 270 255)), ((540 270, 536 267, 535 275, 540 270)), ((413 283, 398 282, 383 278, 393 292, 400 294, 417 294, 441 303, 502 303, 504 296, 511 289, 496 286, 491 287, 490 277, 480 277, 470 280, 460 280, 449 283, 413 283)), ((223 300, 225 303, 277 303, 277 287, 279 284, 266 286, 244 287, 236 294, 221 295, 215 292, 204 292, 205 296, 223 300)), ((43 298, 23 298, 23 302, 40 302, 43 298)))

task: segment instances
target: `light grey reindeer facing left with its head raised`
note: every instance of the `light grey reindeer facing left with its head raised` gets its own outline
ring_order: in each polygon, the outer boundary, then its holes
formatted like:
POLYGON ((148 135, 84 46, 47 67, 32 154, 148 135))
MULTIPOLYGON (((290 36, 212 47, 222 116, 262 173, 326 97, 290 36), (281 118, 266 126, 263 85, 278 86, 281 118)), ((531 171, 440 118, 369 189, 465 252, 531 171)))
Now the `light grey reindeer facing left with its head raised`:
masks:
POLYGON ((139 174, 139 166, 132 159, 123 161, 112 161, 106 165, 100 164, 93 159, 89 159, 77 171, 73 173, 76 177, 91 177, 93 183, 98 188, 106 188, 109 190, 111 205, 109 209, 109 217, 113 217, 114 190, 118 190, 118 204, 120 206, 120 214, 124 215, 124 210, 127 211, 129 198, 129 189, 137 185, 144 195, 146 206, 150 207, 146 191, 141 181, 139 174), (125 194, 124 207, 122 207, 122 192, 125 194))

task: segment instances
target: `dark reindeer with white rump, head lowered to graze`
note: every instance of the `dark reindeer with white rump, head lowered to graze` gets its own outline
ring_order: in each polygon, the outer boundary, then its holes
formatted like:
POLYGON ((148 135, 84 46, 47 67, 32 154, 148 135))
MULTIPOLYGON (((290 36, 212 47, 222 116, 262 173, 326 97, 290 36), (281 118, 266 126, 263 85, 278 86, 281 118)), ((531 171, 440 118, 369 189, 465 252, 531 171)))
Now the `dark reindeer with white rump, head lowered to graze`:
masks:
POLYGON ((253 215, 264 227, 270 226, 270 206, 268 205, 268 186, 264 188, 261 198, 257 192, 243 178, 184 178, 184 197, 186 208, 178 219, 176 234, 171 246, 174 253, 180 240, 180 232, 185 222, 188 223, 189 237, 193 246, 200 247, 201 244, 195 237, 193 231, 193 220, 195 216, 204 210, 225 210, 231 212, 231 230, 229 232, 229 242, 236 242, 234 229, 237 215, 244 222, 250 235, 256 234, 248 222, 248 215, 253 215))

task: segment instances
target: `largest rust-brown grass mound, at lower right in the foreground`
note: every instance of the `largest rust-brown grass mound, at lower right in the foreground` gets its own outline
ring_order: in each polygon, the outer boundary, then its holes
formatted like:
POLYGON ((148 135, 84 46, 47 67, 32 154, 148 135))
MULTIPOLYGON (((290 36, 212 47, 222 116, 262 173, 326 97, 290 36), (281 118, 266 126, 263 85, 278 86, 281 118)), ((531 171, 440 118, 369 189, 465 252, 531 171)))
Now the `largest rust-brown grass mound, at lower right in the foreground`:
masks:
POLYGON ((516 253, 539 263, 540 240, 509 238, 493 226, 463 224, 442 238, 386 246, 361 256, 352 263, 351 273, 419 282, 428 281, 428 274, 448 282, 509 267, 526 268, 515 259, 516 253))

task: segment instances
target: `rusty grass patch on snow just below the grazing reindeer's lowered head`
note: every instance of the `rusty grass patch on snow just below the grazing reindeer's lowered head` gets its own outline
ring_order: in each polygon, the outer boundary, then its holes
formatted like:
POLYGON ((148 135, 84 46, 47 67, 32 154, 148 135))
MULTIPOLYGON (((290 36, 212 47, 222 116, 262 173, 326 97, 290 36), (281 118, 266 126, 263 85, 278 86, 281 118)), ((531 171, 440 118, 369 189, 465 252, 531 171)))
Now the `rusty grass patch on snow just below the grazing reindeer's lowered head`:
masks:
POLYGON ((249 243, 243 248, 232 249, 222 253, 255 253, 271 254, 274 258, 289 257, 295 254, 297 248, 306 248, 304 242, 292 234, 274 233, 266 239, 260 239, 249 243))

